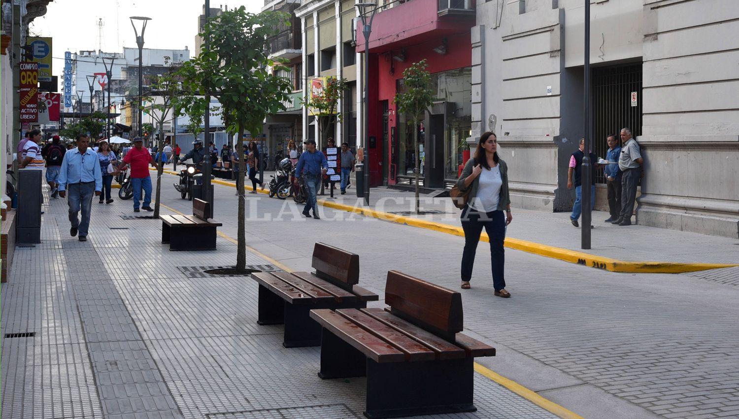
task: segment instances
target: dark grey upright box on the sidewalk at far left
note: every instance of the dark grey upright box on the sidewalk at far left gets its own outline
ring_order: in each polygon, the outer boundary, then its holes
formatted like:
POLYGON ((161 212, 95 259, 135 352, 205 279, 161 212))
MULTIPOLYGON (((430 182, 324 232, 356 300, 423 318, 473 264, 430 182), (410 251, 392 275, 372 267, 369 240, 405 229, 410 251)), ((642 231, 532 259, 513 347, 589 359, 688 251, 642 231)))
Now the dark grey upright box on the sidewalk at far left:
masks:
POLYGON ((41 243, 41 170, 18 170, 18 220, 16 242, 41 243))

